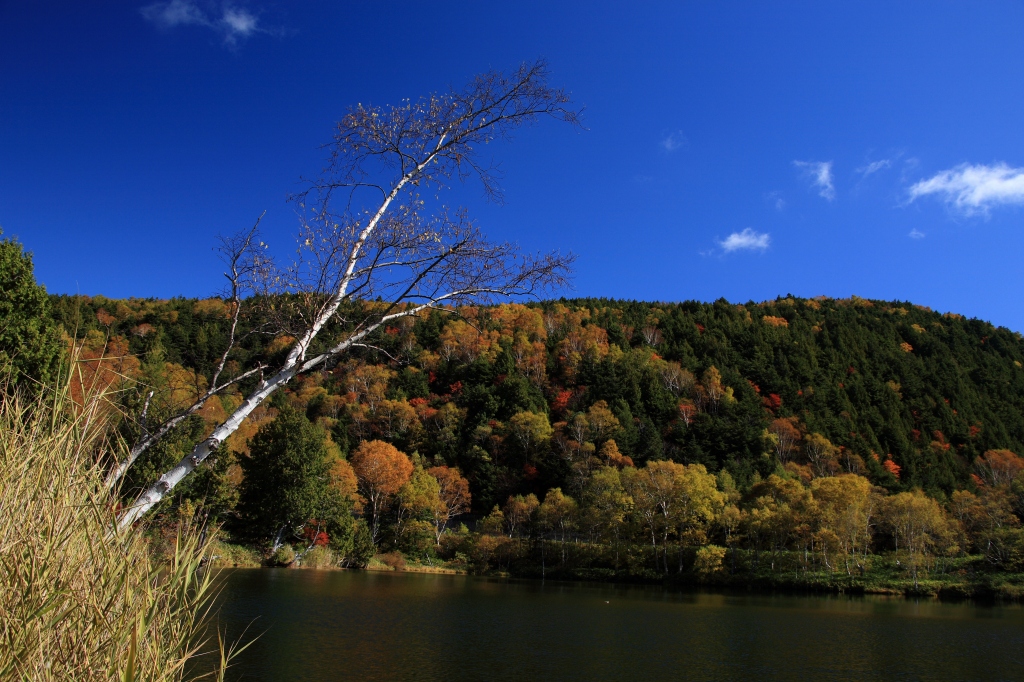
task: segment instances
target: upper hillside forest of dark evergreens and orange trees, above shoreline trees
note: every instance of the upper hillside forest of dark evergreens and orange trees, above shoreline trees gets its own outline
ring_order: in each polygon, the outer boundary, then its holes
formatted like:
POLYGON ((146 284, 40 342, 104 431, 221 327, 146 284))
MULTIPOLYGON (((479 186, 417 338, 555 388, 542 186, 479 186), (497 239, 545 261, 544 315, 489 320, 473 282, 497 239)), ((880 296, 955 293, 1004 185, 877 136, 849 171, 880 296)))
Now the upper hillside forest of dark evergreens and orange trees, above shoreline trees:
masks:
MULTIPOLYGON (((117 375, 130 402, 157 390, 151 421, 205 387, 227 334, 217 299, 52 304, 89 352, 106 344, 125 356, 117 375)), ((609 440, 637 465, 698 463, 740 486, 790 464, 940 498, 972 484, 985 451, 1024 450, 1021 335, 910 303, 561 300, 434 311, 374 345, 290 386, 287 401, 341 457, 379 438, 459 467, 481 511, 512 494, 578 486, 609 440), (815 434, 823 450, 810 457, 815 434)), ((240 367, 284 344, 255 335, 245 346, 240 367)), ((202 414, 215 420, 237 399, 202 414)))

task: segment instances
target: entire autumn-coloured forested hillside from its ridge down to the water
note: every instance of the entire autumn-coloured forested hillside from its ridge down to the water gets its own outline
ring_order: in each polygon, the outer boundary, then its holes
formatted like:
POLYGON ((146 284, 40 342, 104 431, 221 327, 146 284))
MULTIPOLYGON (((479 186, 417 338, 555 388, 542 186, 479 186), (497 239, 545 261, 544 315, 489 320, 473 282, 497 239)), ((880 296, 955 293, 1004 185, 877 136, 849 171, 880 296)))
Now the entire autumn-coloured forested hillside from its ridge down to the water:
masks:
MULTIPOLYGON (((75 391, 110 388, 128 443, 227 347, 219 299, 51 303, 75 391)), ((293 303, 250 301, 222 376, 280 361, 293 303)), ((275 564, 1017 598, 1022 359, 1017 333, 858 298, 433 310, 274 394, 156 527, 199 509, 275 564)), ((257 381, 146 451, 125 502, 257 381)))

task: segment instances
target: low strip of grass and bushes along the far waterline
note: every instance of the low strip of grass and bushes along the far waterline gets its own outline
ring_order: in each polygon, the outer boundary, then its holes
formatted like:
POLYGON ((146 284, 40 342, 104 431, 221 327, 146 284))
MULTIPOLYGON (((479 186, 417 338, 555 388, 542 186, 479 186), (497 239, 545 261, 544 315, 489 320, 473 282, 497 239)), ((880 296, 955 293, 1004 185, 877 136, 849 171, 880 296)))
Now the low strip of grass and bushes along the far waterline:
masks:
MULTIPOLYGON (((665 585, 679 588, 877 594, 941 599, 1019 602, 1024 600, 1024 572, 1000 570, 984 555, 931 557, 913 568, 896 554, 857 557, 847 570, 831 569, 803 552, 755 553, 716 545, 671 548, 675 564, 669 572, 649 566, 664 560, 664 550, 649 546, 614 548, 581 541, 510 538, 470 532, 465 528, 444 538, 430 556, 392 550, 348 569, 471 574, 549 581, 665 585), (445 558, 446 557, 446 558, 445 558), (645 567, 648 566, 648 567, 645 567)), ((211 560, 219 567, 342 568, 341 557, 315 548, 295 559, 290 548, 276 557, 258 548, 215 542, 211 560), (286 563, 282 562, 282 559, 286 563)))

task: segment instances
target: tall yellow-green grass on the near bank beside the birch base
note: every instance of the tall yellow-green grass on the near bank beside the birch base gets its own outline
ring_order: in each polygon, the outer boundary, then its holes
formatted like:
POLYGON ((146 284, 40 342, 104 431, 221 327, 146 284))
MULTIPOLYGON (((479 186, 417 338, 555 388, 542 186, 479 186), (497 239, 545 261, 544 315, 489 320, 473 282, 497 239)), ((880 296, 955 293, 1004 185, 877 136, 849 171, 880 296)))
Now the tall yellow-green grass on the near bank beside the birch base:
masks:
POLYGON ((0 680, 183 680, 207 646, 208 543, 180 525, 158 562, 139 528, 114 531, 100 404, 0 390, 0 680))

